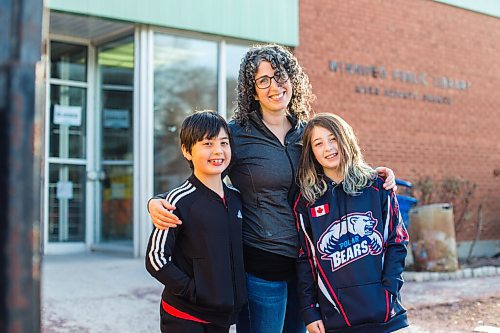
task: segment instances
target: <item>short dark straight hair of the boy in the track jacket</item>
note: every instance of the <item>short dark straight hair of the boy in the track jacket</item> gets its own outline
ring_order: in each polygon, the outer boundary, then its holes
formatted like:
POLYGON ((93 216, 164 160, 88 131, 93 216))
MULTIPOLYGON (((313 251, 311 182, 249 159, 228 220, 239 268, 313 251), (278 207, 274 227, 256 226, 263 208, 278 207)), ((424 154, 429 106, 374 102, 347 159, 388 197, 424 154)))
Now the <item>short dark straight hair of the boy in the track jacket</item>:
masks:
MULTIPOLYGON (((205 138, 216 138, 221 129, 224 129, 229 137, 227 122, 221 115, 212 110, 196 111, 182 122, 179 133, 181 147, 184 146, 186 151, 191 153, 191 149, 197 142, 205 138)), ((191 161, 189 161, 189 166, 193 168, 191 161)))

